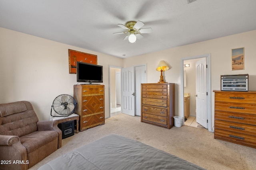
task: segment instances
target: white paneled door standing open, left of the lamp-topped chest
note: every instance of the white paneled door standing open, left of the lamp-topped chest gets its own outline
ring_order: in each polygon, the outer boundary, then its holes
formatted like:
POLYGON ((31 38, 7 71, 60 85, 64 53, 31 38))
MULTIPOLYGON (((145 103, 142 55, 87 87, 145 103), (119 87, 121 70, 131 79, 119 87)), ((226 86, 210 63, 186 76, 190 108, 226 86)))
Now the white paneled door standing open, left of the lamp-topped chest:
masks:
POLYGON ((122 69, 122 113, 135 116, 134 67, 122 69))

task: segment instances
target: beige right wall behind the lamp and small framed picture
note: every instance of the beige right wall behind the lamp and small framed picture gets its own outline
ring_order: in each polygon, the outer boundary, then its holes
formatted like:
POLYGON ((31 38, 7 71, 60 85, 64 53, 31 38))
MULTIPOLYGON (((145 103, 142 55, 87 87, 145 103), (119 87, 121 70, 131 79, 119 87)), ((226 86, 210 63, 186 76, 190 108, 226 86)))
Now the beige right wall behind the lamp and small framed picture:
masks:
MULTIPOLYGON (((182 36, 182 35, 181 35, 182 36)), ((171 41, 171 39, 170 39, 171 41)), ((147 82, 156 83, 159 81, 160 72, 156 66, 160 60, 166 61, 170 70, 164 72, 166 82, 176 83, 175 86, 175 115, 183 116, 181 108, 181 59, 204 54, 211 54, 211 90, 212 93, 212 127, 214 126, 214 93, 212 90, 220 90, 220 75, 222 74, 249 74, 249 90, 256 90, 256 30, 184 45, 172 49, 166 49, 155 53, 140 55, 124 59, 124 67, 136 64, 147 64, 147 82), (232 71, 231 49, 244 47, 244 70, 232 71), (134 62, 136 61, 136 62, 134 62)), ((183 66, 183 64, 182 64, 183 66)))

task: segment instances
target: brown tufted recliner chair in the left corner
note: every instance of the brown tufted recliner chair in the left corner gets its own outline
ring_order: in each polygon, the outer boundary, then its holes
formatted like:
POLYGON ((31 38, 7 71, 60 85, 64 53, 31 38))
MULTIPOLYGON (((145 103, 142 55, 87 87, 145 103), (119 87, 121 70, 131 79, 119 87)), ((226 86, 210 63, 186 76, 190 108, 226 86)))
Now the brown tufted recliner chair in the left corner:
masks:
POLYGON ((56 121, 38 121, 30 102, 0 104, 0 170, 27 170, 61 147, 56 121))

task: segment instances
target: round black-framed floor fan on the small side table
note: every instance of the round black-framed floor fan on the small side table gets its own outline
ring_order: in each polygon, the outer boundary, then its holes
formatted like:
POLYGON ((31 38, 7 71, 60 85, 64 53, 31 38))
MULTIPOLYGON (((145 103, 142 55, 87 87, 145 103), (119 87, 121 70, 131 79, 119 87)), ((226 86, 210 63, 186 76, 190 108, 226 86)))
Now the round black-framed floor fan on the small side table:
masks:
MULTIPOLYGON (((74 113, 76 109, 76 100, 68 94, 61 94, 60 96, 57 96, 53 100, 52 108, 59 115, 68 116, 74 113)), ((51 115, 52 115, 52 109, 51 109, 51 115)))

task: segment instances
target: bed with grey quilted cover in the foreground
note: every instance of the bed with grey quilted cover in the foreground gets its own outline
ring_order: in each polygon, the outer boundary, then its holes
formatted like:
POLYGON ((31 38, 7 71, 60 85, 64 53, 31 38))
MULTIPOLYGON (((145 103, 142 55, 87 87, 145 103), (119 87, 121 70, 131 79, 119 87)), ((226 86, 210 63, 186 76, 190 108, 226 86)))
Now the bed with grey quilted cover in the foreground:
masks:
POLYGON ((204 170, 133 139, 111 134, 68 152, 38 170, 204 170))

